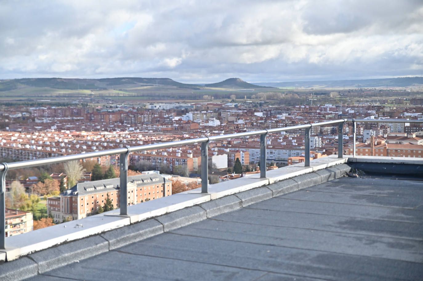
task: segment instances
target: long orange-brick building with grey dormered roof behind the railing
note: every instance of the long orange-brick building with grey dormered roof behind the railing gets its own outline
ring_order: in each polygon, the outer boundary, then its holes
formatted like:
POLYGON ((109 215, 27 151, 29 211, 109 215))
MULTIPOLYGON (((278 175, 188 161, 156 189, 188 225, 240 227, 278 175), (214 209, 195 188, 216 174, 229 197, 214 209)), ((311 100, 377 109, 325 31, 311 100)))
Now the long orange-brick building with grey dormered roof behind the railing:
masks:
MULTIPOLYGON (((107 195, 114 208, 120 206, 120 179, 96 180, 77 183, 60 196, 47 199, 47 214, 55 221, 66 218, 85 218, 98 212, 106 202, 107 195)), ((157 173, 128 177, 128 205, 154 200, 172 194, 172 182, 157 173)))

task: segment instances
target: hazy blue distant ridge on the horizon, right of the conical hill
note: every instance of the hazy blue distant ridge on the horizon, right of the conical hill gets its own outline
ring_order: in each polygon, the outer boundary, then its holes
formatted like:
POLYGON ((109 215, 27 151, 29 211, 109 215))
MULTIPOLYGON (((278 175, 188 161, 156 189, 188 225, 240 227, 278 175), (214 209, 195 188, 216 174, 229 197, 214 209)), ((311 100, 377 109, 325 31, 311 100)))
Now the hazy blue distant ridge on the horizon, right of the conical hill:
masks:
POLYGON ((293 81, 255 83, 270 87, 304 87, 304 88, 374 88, 374 87, 412 87, 423 85, 423 77, 397 77, 383 79, 328 80, 328 81, 293 81))

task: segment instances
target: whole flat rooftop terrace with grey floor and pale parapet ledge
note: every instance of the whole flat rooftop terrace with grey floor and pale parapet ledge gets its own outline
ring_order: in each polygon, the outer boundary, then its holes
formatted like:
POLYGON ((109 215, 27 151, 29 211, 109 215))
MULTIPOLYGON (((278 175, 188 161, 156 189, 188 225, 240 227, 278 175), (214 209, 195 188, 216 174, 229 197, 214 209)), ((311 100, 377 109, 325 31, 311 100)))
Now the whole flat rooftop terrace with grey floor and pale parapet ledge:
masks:
POLYGON ((422 167, 335 155, 8 237, 0 279, 418 280, 422 167))

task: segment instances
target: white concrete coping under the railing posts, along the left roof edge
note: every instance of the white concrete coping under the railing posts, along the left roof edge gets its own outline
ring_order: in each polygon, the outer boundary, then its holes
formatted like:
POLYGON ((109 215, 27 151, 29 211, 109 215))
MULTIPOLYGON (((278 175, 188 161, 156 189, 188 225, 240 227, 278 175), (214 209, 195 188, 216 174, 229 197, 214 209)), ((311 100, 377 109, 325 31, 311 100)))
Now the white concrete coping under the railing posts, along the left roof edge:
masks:
POLYGON ((127 216, 119 216, 119 210, 89 216, 80 220, 69 221, 25 234, 6 237, 6 250, 0 250, 0 260, 8 261, 19 258, 34 251, 40 251, 60 243, 96 235, 111 229, 133 224, 170 213, 176 210, 198 205, 213 199, 221 198, 256 187, 266 186, 280 180, 310 173, 329 166, 345 163, 345 158, 330 156, 310 161, 310 167, 304 163, 286 166, 266 172, 267 178, 259 174, 241 177, 209 186, 209 193, 202 194, 201 188, 181 192, 128 207, 127 216), (82 226, 81 226, 82 225, 82 226), (66 227, 65 227, 66 226, 66 227), (5 254, 4 254, 5 253, 5 254))

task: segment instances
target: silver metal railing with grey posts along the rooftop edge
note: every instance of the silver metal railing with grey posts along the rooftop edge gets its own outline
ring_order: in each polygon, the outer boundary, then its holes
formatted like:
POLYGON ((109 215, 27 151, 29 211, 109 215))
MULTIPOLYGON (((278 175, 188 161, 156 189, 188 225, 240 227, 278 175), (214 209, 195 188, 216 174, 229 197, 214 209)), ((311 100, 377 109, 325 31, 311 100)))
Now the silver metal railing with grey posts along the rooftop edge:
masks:
MULTIPOLYGON (((266 136, 272 133, 278 133, 283 131, 292 131, 298 129, 305 129, 305 166, 310 166, 310 129, 314 127, 319 127, 323 125, 338 125, 338 158, 343 157, 343 124, 347 121, 351 121, 354 127, 354 154, 355 154, 355 127, 357 122, 392 122, 392 120, 356 120, 356 119, 338 119, 330 120, 319 123, 310 123, 304 125, 290 126, 284 128, 274 128, 274 129, 265 129, 260 131, 249 131, 244 133, 220 135, 220 136, 209 136, 201 137, 196 139, 185 139, 175 142, 164 142, 159 144, 151 145, 140 145, 133 147, 123 147, 111 150, 104 150, 98 152, 89 152, 81 153, 75 155, 59 156, 52 158, 44 158, 38 160, 29 160, 29 161, 20 161, 13 163, 1 163, 0 164, 0 249, 5 249, 5 175, 8 170, 27 168, 33 166, 41 166, 47 164, 57 164, 66 161, 80 160, 85 158, 101 157, 101 156, 110 156, 119 154, 119 168, 120 168, 120 215, 127 215, 127 196, 126 196, 126 185, 128 177, 128 156, 129 153, 154 150, 160 148, 169 148, 177 147, 183 145, 194 145, 201 143, 201 193, 208 193, 208 146, 209 142, 217 141, 222 139, 233 139, 238 137, 245 136, 260 136, 260 177, 266 177, 266 136)), ((394 121, 397 122, 397 121, 394 121)), ((411 120, 398 120, 398 122, 403 123, 423 123, 423 120, 420 122, 412 122, 411 120)), ((165 195, 165 194, 164 194, 165 195)))

